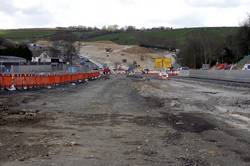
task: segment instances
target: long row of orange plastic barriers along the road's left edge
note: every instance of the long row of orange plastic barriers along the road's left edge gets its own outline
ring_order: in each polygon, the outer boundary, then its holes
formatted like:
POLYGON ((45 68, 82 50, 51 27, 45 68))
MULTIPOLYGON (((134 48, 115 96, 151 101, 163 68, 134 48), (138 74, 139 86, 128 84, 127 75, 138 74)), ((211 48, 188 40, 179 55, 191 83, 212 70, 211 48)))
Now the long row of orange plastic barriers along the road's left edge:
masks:
POLYGON ((97 79, 100 72, 64 74, 0 74, 0 88, 39 88, 97 79))

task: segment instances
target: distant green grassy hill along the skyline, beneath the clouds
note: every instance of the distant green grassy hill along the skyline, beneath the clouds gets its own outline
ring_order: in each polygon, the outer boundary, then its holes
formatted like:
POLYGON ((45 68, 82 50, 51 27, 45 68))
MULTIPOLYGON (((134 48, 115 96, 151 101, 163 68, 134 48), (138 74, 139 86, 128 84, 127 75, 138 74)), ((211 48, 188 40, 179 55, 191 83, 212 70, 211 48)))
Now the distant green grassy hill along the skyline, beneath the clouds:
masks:
MULTIPOLYGON (((101 41, 110 40, 118 44, 137 44, 147 43, 157 45, 157 43, 174 42, 178 47, 184 39, 192 34, 206 32, 206 34, 216 35, 218 39, 224 39, 230 34, 236 33, 238 27, 206 27, 206 28, 182 28, 169 30, 145 30, 130 32, 102 32, 102 31, 77 31, 71 32, 79 40, 84 41, 101 41), (166 41, 168 40, 168 41, 166 41)), ((38 40, 53 36, 59 29, 16 29, 16 30, 0 30, 0 37, 15 41, 38 40)))

